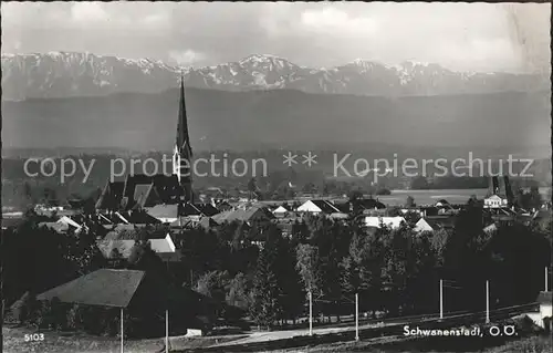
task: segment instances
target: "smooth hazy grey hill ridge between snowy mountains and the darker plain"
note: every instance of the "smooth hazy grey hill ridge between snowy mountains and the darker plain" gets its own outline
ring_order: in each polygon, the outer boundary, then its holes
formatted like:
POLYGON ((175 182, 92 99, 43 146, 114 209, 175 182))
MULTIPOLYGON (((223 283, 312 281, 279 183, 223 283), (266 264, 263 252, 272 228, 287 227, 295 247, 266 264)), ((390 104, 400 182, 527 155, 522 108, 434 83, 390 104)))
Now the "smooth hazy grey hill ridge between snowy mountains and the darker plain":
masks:
MULTIPOLYGON (((550 142, 549 92, 354 96, 186 90, 196 149, 355 145, 536 146, 550 142)), ((3 147, 171 148, 178 91, 2 102, 3 147)))

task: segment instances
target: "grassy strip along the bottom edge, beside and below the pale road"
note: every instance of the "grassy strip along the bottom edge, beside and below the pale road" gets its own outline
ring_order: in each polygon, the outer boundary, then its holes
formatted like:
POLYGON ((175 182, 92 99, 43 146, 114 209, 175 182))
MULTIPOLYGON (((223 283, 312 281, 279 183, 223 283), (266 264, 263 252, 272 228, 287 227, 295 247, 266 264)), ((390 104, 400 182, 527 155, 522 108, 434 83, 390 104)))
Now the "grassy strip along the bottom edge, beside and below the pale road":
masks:
MULTIPOLYGON (((552 336, 539 335, 535 332, 518 331, 521 338, 467 338, 467 336, 432 336, 405 338, 403 335, 366 339, 361 342, 323 343, 292 349, 293 345, 268 345, 248 347, 247 345, 213 347, 217 344, 243 340, 248 334, 232 334, 204 338, 173 338, 171 352, 264 352, 274 353, 314 353, 314 352, 365 352, 365 353, 452 353, 452 352, 486 352, 486 353, 545 353, 553 352, 552 336), (232 350, 230 350, 232 347, 232 350)), ((7 353, 44 352, 44 353, 116 353, 119 352, 121 341, 117 338, 93 336, 83 333, 60 333, 41 331, 44 334, 42 342, 25 342, 25 334, 38 333, 25 328, 3 328, 4 346, 7 353)), ((321 339, 325 338, 324 335, 321 339)), ((353 339, 353 336, 351 338, 353 339)), ((346 339, 347 340, 347 339, 346 339)), ((327 341, 328 342, 328 341, 327 341)), ((313 341, 312 341, 313 343, 313 341)), ((310 344, 305 342, 304 344, 310 344)), ((127 353, 155 353, 164 346, 164 339, 126 340, 127 353)))

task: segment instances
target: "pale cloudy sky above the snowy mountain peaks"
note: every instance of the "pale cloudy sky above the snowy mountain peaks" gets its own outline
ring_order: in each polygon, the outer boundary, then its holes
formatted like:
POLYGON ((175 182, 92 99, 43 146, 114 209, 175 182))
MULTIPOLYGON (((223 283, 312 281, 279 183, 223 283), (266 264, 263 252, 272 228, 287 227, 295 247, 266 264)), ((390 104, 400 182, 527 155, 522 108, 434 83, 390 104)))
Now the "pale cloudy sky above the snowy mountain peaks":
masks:
POLYGON ((2 3, 2 52, 88 51, 210 65, 267 53, 453 70, 547 70, 550 4, 2 3))

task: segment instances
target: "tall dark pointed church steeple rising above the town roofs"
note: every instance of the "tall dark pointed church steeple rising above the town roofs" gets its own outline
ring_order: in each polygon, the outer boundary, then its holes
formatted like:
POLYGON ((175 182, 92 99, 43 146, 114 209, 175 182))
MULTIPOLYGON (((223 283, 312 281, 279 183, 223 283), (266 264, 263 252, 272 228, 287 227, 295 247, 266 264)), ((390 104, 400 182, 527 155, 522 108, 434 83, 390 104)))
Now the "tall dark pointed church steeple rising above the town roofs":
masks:
POLYGON ((178 107, 177 137, 173 152, 173 174, 182 188, 182 200, 192 203, 192 148, 188 135, 188 120, 185 105, 185 77, 180 75, 180 101, 178 107))

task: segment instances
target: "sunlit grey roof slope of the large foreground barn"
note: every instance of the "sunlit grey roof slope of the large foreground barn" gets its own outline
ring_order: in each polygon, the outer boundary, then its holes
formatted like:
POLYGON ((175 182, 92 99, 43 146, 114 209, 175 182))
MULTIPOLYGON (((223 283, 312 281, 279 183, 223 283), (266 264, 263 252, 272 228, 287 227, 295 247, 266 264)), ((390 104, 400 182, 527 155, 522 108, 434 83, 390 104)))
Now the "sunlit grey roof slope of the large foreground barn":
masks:
POLYGON ((127 308, 144 271, 101 269, 36 297, 38 300, 60 299, 64 303, 127 308))

